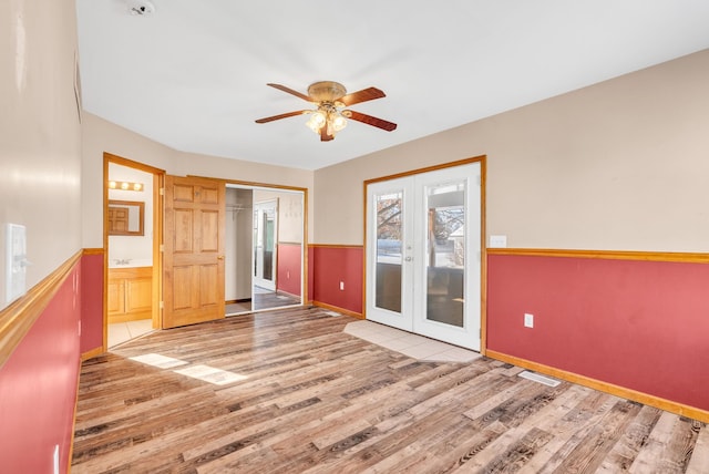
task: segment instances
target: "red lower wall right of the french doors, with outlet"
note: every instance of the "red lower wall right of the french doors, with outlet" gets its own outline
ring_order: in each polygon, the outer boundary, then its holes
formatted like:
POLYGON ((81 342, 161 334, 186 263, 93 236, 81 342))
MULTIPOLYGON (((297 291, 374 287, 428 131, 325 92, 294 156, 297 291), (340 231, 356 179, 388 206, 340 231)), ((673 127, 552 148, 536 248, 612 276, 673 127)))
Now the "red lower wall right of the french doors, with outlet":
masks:
POLYGON ((707 264, 489 255, 486 328, 491 351, 709 410, 707 264))

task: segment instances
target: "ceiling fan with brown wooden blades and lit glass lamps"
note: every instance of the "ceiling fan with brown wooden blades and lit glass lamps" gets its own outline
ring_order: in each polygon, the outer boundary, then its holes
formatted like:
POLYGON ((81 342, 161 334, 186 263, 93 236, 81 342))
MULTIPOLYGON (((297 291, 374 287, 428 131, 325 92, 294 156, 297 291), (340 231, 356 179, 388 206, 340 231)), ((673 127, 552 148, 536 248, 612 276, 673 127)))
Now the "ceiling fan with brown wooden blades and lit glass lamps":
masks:
POLYGON ((259 118, 256 123, 268 123, 296 115, 310 114, 310 120, 308 120, 306 125, 320 135, 320 141, 322 142, 333 140, 335 135, 347 126, 347 118, 366 123, 367 125, 372 125, 387 132, 397 128, 395 123, 345 109, 361 102, 384 97, 384 93, 377 87, 362 89, 361 91, 348 94, 347 89, 338 82, 320 81, 310 84, 308 86, 308 95, 306 95, 285 85, 271 83, 266 85, 292 94, 304 101, 311 102, 316 104, 317 109, 287 112, 280 115, 259 118))

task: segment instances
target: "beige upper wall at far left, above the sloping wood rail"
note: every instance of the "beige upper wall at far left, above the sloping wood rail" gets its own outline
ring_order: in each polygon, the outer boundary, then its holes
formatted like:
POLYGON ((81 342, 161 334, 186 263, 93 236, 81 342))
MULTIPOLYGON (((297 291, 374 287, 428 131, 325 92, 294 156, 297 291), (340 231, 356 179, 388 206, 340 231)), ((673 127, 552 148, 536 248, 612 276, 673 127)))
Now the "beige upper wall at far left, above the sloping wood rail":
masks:
POLYGON ((29 289, 81 249, 81 127, 73 0, 0 9, 0 308, 4 226, 25 226, 29 289))

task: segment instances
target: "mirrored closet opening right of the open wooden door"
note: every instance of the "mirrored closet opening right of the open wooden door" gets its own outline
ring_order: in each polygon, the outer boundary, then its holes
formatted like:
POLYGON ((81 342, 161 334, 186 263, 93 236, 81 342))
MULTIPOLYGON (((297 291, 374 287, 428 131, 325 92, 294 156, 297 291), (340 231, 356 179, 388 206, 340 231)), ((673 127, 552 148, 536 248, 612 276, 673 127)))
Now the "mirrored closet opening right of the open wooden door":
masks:
POLYGON ((305 301, 306 190, 226 185, 226 316, 305 301))

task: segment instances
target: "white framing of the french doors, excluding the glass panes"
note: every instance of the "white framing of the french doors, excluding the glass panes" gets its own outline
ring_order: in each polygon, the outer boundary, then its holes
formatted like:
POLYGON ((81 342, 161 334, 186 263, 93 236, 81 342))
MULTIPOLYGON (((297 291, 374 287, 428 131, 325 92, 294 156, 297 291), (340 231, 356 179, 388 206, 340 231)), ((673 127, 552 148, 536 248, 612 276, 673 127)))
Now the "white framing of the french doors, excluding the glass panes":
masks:
POLYGON ((483 206, 482 161, 451 167, 411 173, 393 179, 366 183, 366 315, 367 319, 399 329, 443 340, 473 350, 481 350, 482 339, 482 255, 483 206), (427 239, 428 206, 425 189, 446 182, 464 182, 465 205, 465 268, 463 324, 427 319, 427 239), (401 251, 397 261, 401 267, 401 310, 376 306, 377 291, 377 224, 374 195, 400 192, 403 195, 403 228, 401 251))

